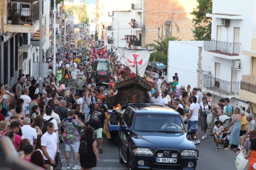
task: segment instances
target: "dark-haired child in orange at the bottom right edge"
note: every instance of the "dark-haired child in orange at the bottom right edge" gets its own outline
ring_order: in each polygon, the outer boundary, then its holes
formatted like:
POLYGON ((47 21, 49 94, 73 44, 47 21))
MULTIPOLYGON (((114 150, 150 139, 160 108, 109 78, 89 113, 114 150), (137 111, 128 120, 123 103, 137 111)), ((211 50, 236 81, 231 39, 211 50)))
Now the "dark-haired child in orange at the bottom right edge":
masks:
POLYGON ((244 151, 243 154, 245 159, 248 159, 250 157, 248 170, 254 170, 255 168, 253 167, 253 165, 256 163, 256 138, 253 138, 251 140, 251 146, 248 150, 247 155, 245 155, 244 151))

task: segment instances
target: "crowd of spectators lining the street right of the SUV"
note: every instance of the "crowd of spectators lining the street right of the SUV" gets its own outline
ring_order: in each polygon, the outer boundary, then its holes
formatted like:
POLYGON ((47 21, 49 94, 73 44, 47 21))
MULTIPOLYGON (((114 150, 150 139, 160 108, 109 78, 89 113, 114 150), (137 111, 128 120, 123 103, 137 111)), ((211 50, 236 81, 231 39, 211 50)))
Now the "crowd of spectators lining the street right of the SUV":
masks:
MULTIPOLYGON (((164 77, 145 73, 154 79, 154 90, 152 91, 151 103, 166 105, 180 113, 188 128, 196 129, 195 135, 191 135, 194 144, 200 143, 198 125, 201 125, 201 140, 207 138, 207 130, 210 135, 215 136, 216 151, 219 151, 219 143, 228 141, 225 150, 230 150, 231 146, 237 146, 234 152, 240 153, 242 150, 248 152, 251 146, 251 139, 256 137, 256 123, 252 114, 240 110, 238 107, 233 108, 229 98, 222 98, 216 104, 213 102, 211 93, 202 93, 201 88, 191 89, 190 85, 179 85, 178 74, 172 77, 173 81, 165 81, 164 77), (207 115, 213 115, 212 122, 207 123, 207 115), (226 128, 222 126, 223 122, 219 117, 226 115, 230 117, 230 123, 226 128), (232 119, 231 119, 232 118, 232 119), (225 134, 225 138, 223 136, 225 134)), ((255 147, 255 146, 254 146, 255 147)))

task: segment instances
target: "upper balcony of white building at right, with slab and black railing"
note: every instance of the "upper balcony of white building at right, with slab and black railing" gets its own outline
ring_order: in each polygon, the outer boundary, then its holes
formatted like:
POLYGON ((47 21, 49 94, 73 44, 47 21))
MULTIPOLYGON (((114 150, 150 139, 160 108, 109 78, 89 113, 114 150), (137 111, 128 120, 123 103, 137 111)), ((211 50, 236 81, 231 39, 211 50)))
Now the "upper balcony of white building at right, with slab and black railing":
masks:
POLYGON ((209 39, 204 41, 204 49, 206 54, 230 60, 241 59, 240 47, 241 43, 228 43, 209 39))

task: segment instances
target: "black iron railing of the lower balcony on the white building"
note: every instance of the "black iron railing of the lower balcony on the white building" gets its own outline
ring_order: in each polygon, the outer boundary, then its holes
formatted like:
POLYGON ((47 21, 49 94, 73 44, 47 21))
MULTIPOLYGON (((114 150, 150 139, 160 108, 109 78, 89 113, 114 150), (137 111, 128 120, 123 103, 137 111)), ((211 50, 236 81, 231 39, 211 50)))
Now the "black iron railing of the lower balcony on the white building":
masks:
POLYGON ((217 79, 212 75, 204 75, 204 87, 224 93, 227 95, 238 94, 239 82, 227 82, 225 80, 217 79))

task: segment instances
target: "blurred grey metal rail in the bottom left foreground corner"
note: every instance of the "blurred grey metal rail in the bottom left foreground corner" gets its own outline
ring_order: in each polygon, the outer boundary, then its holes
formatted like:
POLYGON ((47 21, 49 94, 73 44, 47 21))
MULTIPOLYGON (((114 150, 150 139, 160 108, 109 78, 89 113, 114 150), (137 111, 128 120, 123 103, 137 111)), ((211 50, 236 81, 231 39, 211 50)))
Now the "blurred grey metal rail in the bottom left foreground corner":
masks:
POLYGON ((40 170, 38 166, 18 157, 16 149, 8 137, 1 137, 0 140, 0 167, 0 169, 40 170))

